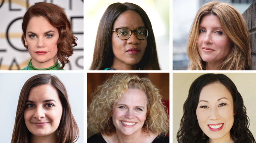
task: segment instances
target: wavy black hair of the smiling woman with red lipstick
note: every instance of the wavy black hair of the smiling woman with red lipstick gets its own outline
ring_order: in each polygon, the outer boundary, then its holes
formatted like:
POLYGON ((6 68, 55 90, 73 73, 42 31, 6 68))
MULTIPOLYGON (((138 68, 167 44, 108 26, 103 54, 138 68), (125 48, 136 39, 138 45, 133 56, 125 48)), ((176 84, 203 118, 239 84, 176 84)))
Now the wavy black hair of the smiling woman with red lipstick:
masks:
POLYGON ((253 134, 249 130, 250 120, 246 115, 242 96, 235 84, 224 74, 204 74, 192 83, 189 88, 188 98, 183 105, 183 116, 177 133, 178 142, 206 143, 209 139, 198 124, 196 109, 202 88, 213 83, 223 84, 232 95, 235 115, 230 136, 234 143, 256 143, 253 134))

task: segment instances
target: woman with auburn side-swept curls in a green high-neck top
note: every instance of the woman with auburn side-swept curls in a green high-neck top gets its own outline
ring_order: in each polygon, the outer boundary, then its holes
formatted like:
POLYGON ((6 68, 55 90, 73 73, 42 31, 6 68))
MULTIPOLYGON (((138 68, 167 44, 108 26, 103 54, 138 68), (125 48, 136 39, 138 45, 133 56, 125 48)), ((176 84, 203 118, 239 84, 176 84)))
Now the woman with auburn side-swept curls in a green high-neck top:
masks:
POLYGON ((21 40, 32 59, 21 70, 64 70, 77 38, 62 7, 35 3, 23 17, 22 30, 21 40))

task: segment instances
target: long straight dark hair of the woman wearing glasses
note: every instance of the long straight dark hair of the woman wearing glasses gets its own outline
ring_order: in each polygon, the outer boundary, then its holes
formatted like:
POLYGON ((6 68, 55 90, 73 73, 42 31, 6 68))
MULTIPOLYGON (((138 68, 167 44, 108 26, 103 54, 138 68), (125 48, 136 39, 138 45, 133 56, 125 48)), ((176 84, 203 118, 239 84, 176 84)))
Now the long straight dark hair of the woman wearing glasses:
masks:
POLYGON ((118 16, 127 10, 137 12, 141 16, 145 27, 150 28, 147 37, 147 47, 137 67, 143 70, 160 70, 156 40, 151 22, 147 13, 140 6, 133 3, 113 3, 104 12, 98 26, 90 70, 103 70, 111 67, 113 64, 114 53, 111 42, 113 25, 118 16))

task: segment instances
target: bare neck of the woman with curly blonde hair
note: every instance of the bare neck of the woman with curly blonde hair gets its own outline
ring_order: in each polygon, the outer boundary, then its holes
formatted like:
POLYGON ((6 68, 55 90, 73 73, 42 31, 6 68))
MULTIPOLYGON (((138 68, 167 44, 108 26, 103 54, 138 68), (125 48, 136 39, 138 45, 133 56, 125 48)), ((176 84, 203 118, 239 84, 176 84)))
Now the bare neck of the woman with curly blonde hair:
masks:
POLYGON ((124 135, 121 132, 115 134, 115 143, 142 143, 144 132, 139 130, 131 135, 124 135))

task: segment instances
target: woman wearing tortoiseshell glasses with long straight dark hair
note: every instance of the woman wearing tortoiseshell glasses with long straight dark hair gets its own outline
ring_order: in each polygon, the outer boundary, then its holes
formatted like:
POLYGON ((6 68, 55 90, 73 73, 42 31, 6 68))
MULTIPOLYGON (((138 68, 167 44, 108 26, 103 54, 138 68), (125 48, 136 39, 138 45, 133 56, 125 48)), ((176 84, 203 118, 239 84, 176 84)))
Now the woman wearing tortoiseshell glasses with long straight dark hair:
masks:
POLYGON ((90 70, 160 70, 152 25, 141 7, 114 3, 106 9, 90 70))

